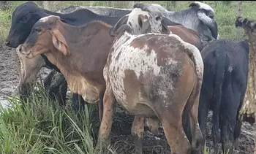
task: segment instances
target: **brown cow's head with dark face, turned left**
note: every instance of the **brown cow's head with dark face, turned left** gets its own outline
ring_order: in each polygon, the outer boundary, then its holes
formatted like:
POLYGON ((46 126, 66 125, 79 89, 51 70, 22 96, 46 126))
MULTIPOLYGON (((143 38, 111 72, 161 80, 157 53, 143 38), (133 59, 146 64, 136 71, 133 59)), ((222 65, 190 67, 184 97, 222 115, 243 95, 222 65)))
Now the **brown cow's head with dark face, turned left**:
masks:
POLYGON ((34 58, 56 48, 64 55, 70 55, 67 41, 59 31, 60 23, 61 19, 55 15, 38 20, 24 44, 18 46, 20 53, 26 58, 34 58))

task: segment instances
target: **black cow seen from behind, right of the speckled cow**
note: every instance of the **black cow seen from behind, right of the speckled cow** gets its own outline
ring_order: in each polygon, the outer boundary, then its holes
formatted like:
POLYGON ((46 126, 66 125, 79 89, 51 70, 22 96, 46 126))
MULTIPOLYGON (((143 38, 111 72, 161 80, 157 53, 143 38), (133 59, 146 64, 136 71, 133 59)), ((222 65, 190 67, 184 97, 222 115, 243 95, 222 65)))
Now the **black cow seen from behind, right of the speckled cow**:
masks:
POLYGON ((206 139, 208 109, 213 111, 214 150, 221 136, 224 153, 233 153, 233 144, 241 133, 239 110, 246 92, 249 45, 246 41, 219 39, 209 42, 201 51, 204 63, 198 120, 206 139), (220 133, 219 133, 220 128, 220 133))

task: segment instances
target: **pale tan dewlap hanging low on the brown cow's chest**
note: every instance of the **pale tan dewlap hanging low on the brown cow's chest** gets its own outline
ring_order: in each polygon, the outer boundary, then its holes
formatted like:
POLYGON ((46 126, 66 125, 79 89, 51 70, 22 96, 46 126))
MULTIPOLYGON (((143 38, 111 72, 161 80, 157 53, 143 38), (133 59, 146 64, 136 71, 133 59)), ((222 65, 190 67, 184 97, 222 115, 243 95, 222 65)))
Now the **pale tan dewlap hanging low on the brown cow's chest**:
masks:
POLYGON ((67 84, 72 93, 78 93, 86 102, 97 104, 99 101, 97 88, 84 77, 72 77, 72 79, 67 80, 67 84))

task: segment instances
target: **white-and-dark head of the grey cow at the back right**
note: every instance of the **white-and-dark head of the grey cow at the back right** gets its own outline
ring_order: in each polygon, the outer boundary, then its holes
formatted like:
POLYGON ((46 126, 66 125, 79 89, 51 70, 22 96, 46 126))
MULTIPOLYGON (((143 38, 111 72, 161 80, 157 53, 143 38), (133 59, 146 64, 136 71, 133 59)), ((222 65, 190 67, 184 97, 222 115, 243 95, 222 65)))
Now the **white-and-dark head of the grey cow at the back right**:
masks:
POLYGON ((212 9, 208 4, 200 1, 192 2, 192 4, 189 4, 189 7, 192 7, 192 9, 197 11, 197 18, 208 26, 211 31, 211 35, 214 37, 214 39, 217 39, 218 27, 216 21, 214 20, 214 9, 212 9))

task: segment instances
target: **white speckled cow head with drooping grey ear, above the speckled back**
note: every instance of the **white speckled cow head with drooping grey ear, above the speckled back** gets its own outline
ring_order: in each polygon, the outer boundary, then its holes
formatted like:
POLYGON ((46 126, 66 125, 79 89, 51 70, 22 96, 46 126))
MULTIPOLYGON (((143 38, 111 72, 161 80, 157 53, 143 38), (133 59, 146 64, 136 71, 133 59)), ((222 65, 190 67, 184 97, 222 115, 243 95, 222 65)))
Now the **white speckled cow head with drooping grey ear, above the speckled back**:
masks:
POLYGON ((134 8, 129 15, 125 15, 123 18, 118 20, 115 26, 110 28, 110 35, 115 36, 118 28, 124 24, 132 27, 132 34, 170 34, 170 31, 167 29, 163 19, 168 20, 162 16, 162 13, 159 10, 134 8))

